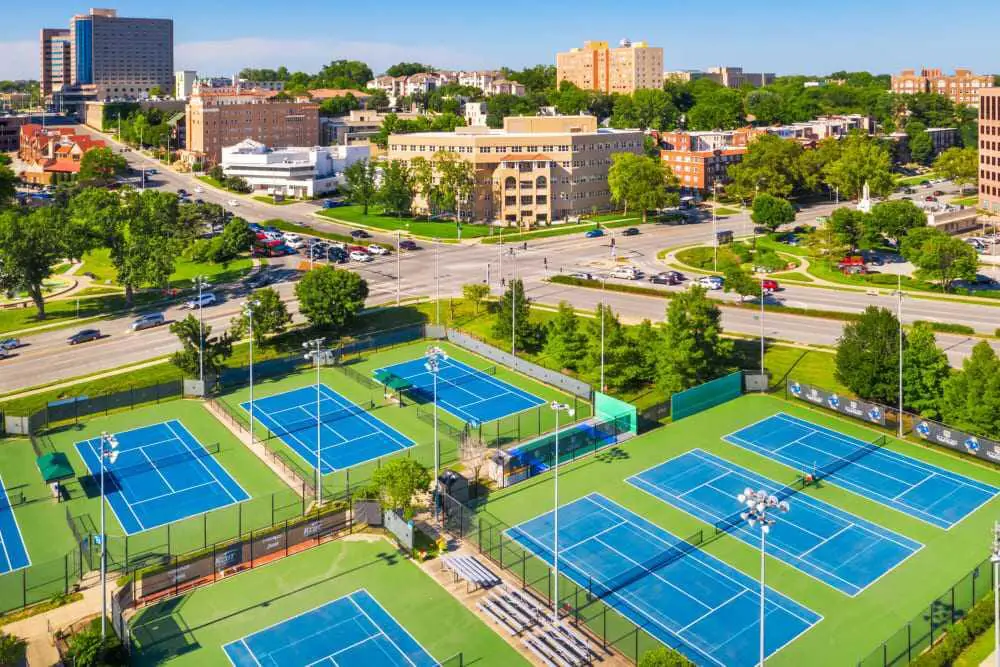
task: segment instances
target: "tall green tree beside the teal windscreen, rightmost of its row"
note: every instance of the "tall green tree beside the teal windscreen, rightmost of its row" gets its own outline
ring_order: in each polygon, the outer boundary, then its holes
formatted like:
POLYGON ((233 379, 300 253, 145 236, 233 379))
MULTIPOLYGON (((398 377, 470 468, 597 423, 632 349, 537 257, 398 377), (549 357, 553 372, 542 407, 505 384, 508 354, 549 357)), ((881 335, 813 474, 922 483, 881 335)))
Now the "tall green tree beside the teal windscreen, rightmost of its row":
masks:
POLYGON ((722 338, 722 313, 703 287, 679 292, 667 306, 657 384, 667 395, 721 376, 733 353, 722 338))

